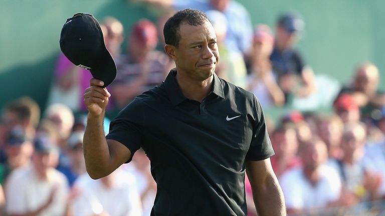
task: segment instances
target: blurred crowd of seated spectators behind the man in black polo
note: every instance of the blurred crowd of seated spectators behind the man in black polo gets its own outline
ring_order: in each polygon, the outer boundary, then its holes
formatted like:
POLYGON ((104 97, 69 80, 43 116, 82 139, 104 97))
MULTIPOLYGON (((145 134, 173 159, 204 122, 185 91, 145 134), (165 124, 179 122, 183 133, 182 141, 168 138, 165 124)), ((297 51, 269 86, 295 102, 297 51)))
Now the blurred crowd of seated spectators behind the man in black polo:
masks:
MULTIPOLYGON (((110 119, 174 67, 162 50, 165 20, 177 9, 197 8, 216 30, 216 73, 253 92, 262 104, 275 150, 271 162, 288 213, 385 215, 385 93, 382 72, 370 56, 358 59, 349 73, 335 71, 336 77, 314 70, 306 60, 311 56, 297 47, 301 39, 313 36, 306 33, 306 18, 297 10, 282 10, 268 24, 252 21, 255 9, 241 0, 121 4, 140 5, 152 16, 137 15, 130 26, 114 14, 97 17, 118 69, 107 87, 112 97, 106 134, 110 119), (340 81, 341 76, 346 78, 340 81)), ((137 151, 132 162, 107 177, 93 180, 86 173, 82 95, 90 72, 61 52, 46 69, 52 75, 43 99, 30 91, 44 86, 13 86, 23 94, 2 101, 0 214, 149 215, 156 183, 145 152, 137 151)), ((245 181, 248 213, 257 215, 247 176, 245 181)))

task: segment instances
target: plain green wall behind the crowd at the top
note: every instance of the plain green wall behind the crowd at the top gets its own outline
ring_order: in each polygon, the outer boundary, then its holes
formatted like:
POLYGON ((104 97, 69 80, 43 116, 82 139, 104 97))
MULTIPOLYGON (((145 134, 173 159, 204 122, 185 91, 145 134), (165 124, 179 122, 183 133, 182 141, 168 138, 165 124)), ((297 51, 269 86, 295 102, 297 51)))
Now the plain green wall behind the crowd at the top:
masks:
MULTIPOLYGON (((373 61, 385 83, 383 49, 385 1, 380 0, 239 0, 252 22, 274 25, 285 10, 302 14, 306 31, 298 47, 316 74, 341 81, 363 60, 373 61)), ((0 107, 30 95, 44 107, 63 23, 76 12, 102 19, 113 15, 127 30, 140 17, 155 19, 153 7, 129 0, 0 0, 0 107)), ((321 89, 327 86, 320 86, 321 89)))

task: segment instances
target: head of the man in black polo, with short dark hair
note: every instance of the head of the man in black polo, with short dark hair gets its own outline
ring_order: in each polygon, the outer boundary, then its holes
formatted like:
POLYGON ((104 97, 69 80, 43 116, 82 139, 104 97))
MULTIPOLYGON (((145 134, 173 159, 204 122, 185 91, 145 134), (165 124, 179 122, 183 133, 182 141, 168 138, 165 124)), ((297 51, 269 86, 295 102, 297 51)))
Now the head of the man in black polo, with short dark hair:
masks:
POLYGON ((175 61, 178 73, 206 80, 219 59, 217 36, 207 15, 195 9, 177 11, 165 23, 164 50, 175 61))

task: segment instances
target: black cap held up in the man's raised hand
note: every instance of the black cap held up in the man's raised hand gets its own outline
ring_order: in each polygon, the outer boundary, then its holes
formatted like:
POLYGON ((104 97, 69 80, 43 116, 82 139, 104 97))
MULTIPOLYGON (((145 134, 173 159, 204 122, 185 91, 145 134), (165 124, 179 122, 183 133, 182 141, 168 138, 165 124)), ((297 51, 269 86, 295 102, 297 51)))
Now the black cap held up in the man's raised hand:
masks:
POLYGON ((91 71, 94 78, 109 85, 116 76, 116 65, 104 44, 99 22, 88 13, 76 13, 64 23, 60 48, 75 65, 91 71))

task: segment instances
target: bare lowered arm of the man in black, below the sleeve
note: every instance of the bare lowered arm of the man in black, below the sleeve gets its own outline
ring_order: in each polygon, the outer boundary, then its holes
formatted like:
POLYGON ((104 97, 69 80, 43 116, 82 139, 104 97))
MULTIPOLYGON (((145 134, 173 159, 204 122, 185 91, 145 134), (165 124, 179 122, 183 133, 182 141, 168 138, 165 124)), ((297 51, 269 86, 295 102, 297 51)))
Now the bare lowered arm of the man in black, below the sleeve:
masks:
POLYGON ((246 171, 258 215, 286 215, 283 192, 271 167, 270 158, 247 160, 246 171))

